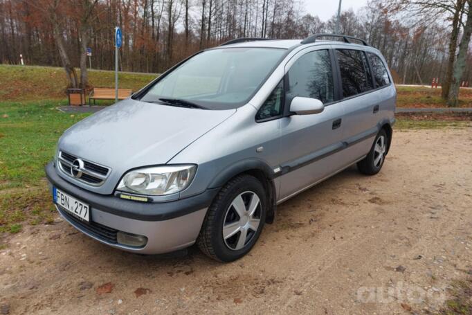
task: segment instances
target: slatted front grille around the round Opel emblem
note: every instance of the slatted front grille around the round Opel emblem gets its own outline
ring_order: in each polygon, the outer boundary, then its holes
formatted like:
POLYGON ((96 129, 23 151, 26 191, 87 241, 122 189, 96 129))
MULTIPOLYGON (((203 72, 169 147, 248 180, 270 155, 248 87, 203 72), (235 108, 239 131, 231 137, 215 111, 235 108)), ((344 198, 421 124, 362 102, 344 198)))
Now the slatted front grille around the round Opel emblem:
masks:
POLYGON ((78 158, 70 153, 60 151, 58 155, 60 169, 64 174, 68 175, 69 177, 73 177, 78 181, 82 181, 84 183, 88 183, 91 186, 100 186, 102 183, 107 179, 110 169, 98 165, 97 163, 93 163, 90 161, 85 161, 83 159, 78 158), (75 177, 72 174, 72 165, 74 161, 80 159, 83 162, 83 167, 80 169, 82 172, 82 176, 75 177))

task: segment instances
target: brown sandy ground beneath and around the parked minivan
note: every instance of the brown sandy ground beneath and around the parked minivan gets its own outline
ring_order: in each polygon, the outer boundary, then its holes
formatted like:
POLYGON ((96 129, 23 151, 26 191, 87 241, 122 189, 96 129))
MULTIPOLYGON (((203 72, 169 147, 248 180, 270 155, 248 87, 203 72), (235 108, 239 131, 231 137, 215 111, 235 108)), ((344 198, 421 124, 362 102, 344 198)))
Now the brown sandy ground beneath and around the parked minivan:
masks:
POLYGON ((194 248, 125 253, 60 219, 26 228, 0 251, 1 310, 428 313, 472 274, 471 156, 471 129, 396 132, 381 173, 350 168, 282 204, 253 251, 230 264, 194 248))

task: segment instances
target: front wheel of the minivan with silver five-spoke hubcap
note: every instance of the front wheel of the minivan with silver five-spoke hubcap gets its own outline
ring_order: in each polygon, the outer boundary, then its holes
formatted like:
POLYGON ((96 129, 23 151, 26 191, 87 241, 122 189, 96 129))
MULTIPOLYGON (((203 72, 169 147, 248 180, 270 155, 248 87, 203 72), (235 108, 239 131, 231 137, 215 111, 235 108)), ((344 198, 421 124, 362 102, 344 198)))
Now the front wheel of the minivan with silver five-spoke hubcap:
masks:
POLYGON ((208 208, 197 245, 220 262, 242 258, 257 242, 266 213, 262 183, 251 175, 239 175, 221 188, 208 208))

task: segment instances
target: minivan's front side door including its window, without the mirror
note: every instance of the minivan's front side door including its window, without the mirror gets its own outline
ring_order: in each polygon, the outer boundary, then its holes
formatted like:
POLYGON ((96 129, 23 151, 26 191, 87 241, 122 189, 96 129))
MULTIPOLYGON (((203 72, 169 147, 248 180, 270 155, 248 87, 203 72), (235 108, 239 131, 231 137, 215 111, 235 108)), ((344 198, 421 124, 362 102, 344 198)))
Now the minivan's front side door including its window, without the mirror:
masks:
POLYGON ((332 154, 342 147, 344 111, 337 102, 334 55, 329 48, 300 51, 285 69, 285 110, 296 96, 321 100, 325 109, 319 114, 284 116, 281 120, 280 201, 340 168, 332 154))

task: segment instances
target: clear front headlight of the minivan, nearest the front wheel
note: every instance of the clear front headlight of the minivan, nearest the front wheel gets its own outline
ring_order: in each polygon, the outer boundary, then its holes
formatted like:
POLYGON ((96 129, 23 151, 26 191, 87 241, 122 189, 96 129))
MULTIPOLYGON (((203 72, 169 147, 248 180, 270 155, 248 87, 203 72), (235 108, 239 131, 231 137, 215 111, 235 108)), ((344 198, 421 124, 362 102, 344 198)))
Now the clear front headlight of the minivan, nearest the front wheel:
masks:
POLYGON ((156 166, 127 172, 118 190, 142 195, 170 195, 187 188, 197 170, 196 165, 156 166))

